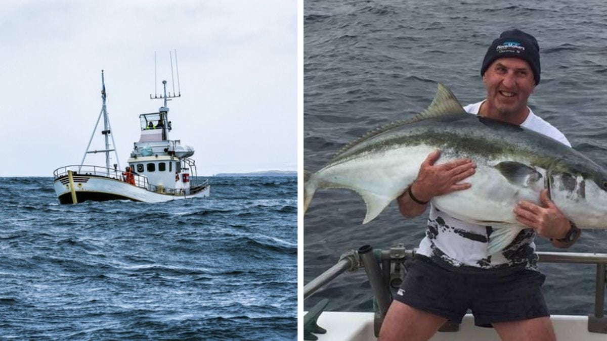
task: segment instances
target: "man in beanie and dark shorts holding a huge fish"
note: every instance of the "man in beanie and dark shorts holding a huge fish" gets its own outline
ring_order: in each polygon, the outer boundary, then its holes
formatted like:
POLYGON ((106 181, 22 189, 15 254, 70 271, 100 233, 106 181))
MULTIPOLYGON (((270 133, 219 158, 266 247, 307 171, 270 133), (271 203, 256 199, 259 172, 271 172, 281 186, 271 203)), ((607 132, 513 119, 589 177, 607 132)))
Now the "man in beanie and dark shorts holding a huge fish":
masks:
MULTIPOLYGON (((486 99, 464 107, 485 116, 554 138, 571 146, 554 126, 535 115, 527 100, 540 83, 540 48, 534 36, 521 30, 501 33, 489 46, 481 67, 486 99)), ((418 176, 397 198, 405 217, 423 214, 430 206, 426 237, 388 309, 379 340, 427 340, 447 320, 461 323, 467 309, 475 325, 493 326, 502 340, 555 340, 548 308, 541 292, 545 276, 538 272, 534 239, 549 238, 568 248, 580 230, 548 197, 540 205, 521 201, 512 208, 527 226, 510 245, 489 255, 491 226, 457 220, 438 211, 430 200, 463 191, 475 173, 472 160, 435 164, 440 150, 421 164, 418 176), (462 182, 463 181, 463 182, 462 182)))

